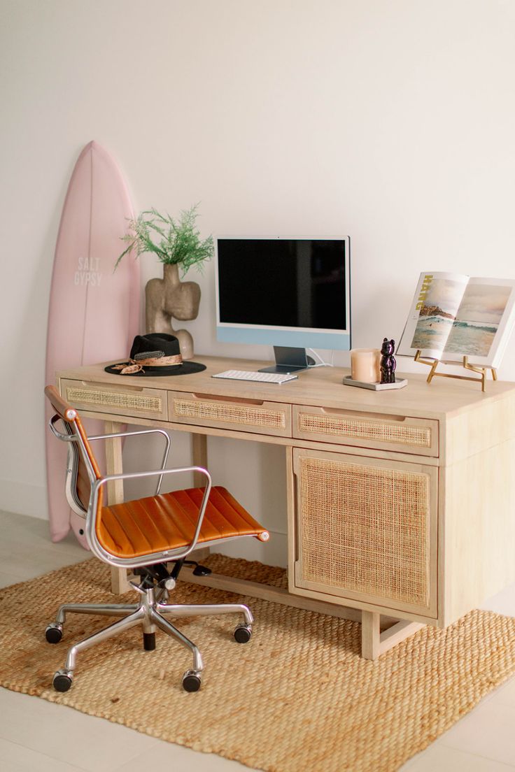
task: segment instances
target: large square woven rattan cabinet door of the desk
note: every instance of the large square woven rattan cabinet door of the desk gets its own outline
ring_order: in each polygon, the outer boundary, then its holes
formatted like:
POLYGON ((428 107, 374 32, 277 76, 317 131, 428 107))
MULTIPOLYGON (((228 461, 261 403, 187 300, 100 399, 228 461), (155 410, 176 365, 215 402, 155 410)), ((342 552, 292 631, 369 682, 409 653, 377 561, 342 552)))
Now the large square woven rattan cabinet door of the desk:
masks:
POLYGON ((293 449, 293 591, 437 616, 438 470, 293 449))

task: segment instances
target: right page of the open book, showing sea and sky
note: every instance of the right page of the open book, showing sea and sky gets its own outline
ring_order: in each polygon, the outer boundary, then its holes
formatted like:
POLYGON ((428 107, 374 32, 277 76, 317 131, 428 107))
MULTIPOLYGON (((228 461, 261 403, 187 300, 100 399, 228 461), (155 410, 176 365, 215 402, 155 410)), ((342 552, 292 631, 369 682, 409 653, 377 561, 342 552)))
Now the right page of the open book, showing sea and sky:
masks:
POLYGON ((446 342, 446 361, 498 367, 513 329, 515 281, 469 280, 446 342))

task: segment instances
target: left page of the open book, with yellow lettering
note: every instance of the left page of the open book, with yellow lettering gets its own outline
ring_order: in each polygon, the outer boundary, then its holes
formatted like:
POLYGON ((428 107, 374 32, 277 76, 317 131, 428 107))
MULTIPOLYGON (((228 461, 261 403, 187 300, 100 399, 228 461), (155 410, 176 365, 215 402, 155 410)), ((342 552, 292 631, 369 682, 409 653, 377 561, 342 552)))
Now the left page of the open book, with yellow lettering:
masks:
POLYGON ((421 350, 423 357, 442 358, 468 281, 459 273, 420 274, 398 354, 414 357, 421 350))

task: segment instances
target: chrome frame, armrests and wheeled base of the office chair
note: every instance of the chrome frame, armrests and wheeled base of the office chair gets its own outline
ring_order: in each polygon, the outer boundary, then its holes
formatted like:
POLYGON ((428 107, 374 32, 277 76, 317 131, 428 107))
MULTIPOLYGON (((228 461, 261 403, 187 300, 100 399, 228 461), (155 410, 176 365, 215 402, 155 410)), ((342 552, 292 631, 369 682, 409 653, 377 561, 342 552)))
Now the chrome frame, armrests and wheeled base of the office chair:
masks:
MULTIPOLYGON (((69 415, 69 418, 75 418, 75 411, 69 411, 73 415, 69 415)), ((163 429, 145 429, 141 432, 120 432, 117 434, 105 434, 105 435, 92 435, 88 436, 89 441, 104 440, 110 438, 130 437, 137 435, 148 434, 161 434, 166 438, 166 445, 164 449, 164 455, 161 462, 161 469, 152 469, 147 472, 124 472, 123 474, 116 475, 104 475, 97 479, 93 466, 91 465, 89 455, 86 451, 86 446, 83 442, 79 432, 73 432, 70 425, 64 422, 66 433, 59 432, 56 428, 58 421, 63 421, 63 418, 59 414, 53 416, 49 421, 49 428, 53 434, 63 440, 63 442, 69 443, 68 464, 66 469, 66 497, 69 505, 72 509, 86 518, 86 541, 92 551, 93 555, 98 557, 103 563, 107 563, 110 566, 120 568, 137 568, 137 567, 151 567, 155 564, 165 564, 168 562, 178 562, 185 560, 193 550, 198 542, 198 537, 202 528, 202 521, 204 520, 206 506, 208 504, 209 493, 212 488, 212 479, 207 469, 202 466, 181 466, 173 469, 165 469, 168 461, 168 452, 170 450, 170 438, 167 432, 163 429), (78 447, 77 447, 78 446, 78 447), (74 491, 74 485, 76 483, 77 469, 79 463, 79 455, 81 453, 83 462, 86 465, 88 477, 90 479, 91 493, 90 502, 87 510, 83 509, 82 504, 76 496, 74 491), (178 474, 181 472, 198 472, 205 476, 206 486, 204 495, 202 497, 202 503, 198 513, 198 520, 195 526, 195 533, 191 542, 186 547, 181 547, 174 550, 162 550, 158 553, 146 554, 141 557, 122 558, 116 557, 102 546, 97 538, 97 510, 98 499, 100 496, 100 489, 108 482, 114 482, 117 480, 137 479, 150 476, 158 476, 158 485, 156 489, 156 496, 161 490, 161 483, 165 475, 178 474)), ((203 542, 202 547, 210 547, 215 544, 222 543, 225 540, 212 540, 209 542, 203 542)), ((197 691, 200 688, 202 670, 204 664, 202 662, 202 655, 198 651, 197 646, 189 640, 178 628, 174 627, 168 619, 164 618, 164 615, 169 615, 172 618, 181 618, 185 616, 208 616, 219 614, 242 614, 244 621, 239 625, 236 625, 234 631, 235 640, 239 643, 246 643, 249 641, 252 635, 252 613, 248 606, 245 604, 168 604, 168 593, 175 587, 175 578, 168 577, 161 583, 161 586, 155 588, 147 586, 144 581, 141 584, 136 584, 130 581, 130 585, 139 594, 139 601, 135 604, 87 604, 87 603, 66 603, 62 604, 56 615, 56 621, 51 622, 46 628, 46 639, 50 643, 58 643, 63 637, 63 625, 66 621, 66 615, 69 613, 76 614, 89 614, 89 615, 102 615, 109 617, 122 617, 119 621, 114 622, 107 628, 103 628, 100 631, 89 635, 82 641, 76 643, 69 648, 66 656, 66 664, 63 669, 58 670, 54 675, 53 685, 57 691, 67 691, 73 682, 73 671, 76 665, 76 655, 80 652, 90 648, 90 646, 97 645, 108 638, 118 635, 120 632, 134 627, 134 625, 141 625, 144 632, 144 648, 152 650, 155 648, 155 631, 159 628, 161 631, 171 635, 183 646, 189 649, 193 656, 193 667, 186 670, 183 675, 182 685, 186 691, 197 691), (164 602, 163 602, 164 601, 164 602)))

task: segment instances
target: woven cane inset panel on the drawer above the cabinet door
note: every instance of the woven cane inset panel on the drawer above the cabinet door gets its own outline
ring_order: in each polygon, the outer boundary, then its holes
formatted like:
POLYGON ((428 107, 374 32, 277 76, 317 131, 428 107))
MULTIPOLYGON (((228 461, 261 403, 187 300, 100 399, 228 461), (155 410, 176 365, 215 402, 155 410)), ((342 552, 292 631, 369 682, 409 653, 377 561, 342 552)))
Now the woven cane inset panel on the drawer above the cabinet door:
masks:
POLYGON ((431 428, 428 426, 403 426, 337 415, 300 413, 299 429, 301 432, 312 434, 398 442, 401 445, 421 448, 431 447, 431 428))

